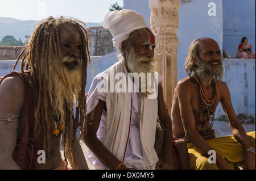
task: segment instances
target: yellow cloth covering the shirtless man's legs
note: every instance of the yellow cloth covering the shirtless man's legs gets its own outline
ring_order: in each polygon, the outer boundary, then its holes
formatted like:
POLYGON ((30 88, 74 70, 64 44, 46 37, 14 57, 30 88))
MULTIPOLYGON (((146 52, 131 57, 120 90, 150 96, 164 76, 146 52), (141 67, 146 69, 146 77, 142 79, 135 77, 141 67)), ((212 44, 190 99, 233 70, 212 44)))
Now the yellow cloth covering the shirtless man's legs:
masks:
MULTIPOLYGON (((255 131, 247 133, 251 145, 255 148, 255 131)), ((224 136, 205 140, 221 157, 228 161, 229 165, 234 169, 237 164, 245 158, 245 150, 233 136, 224 136)), ((199 151, 191 144, 187 143, 189 153, 189 169, 192 170, 216 170, 219 169, 217 164, 209 163, 208 158, 199 153, 199 151)))

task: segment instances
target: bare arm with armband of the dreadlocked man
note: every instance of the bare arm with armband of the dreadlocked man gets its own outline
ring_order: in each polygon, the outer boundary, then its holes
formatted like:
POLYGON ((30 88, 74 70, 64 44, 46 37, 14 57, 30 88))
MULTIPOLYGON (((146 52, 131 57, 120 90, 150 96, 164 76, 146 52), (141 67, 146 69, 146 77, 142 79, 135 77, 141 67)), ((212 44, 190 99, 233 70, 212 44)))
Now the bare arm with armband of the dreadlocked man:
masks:
MULTIPOLYGON (((24 85, 22 79, 17 76, 8 77, 3 80, 0 86, 0 119, 8 119, 14 115, 20 115, 25 106, 24 85)), ((19 117, 14 119, 17 122, 19 117)), ((13 160, 13 153, 16 146, 18 123, 11 121, 0 121, 0 169, 20 169, 13 160)))

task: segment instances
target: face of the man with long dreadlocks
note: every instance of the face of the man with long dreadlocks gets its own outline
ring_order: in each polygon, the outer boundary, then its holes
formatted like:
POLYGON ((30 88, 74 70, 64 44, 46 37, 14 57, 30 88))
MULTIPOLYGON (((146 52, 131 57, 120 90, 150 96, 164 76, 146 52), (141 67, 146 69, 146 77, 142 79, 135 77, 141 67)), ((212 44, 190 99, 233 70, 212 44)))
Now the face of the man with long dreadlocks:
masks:
POLYGON ((75 27, 63 27, 60 30, 60 50, 65 68, 76 69, 81 64, 81 35, 75 27))

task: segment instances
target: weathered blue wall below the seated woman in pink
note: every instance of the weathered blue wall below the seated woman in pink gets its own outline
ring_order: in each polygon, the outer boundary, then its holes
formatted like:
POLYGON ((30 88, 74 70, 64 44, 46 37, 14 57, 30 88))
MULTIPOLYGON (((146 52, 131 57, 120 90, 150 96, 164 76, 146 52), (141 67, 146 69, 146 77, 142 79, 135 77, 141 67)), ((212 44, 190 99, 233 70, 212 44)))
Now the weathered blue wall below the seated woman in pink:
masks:
MULTIPOLYGON (((255 117, 255 59, 224 58, 223 81, 229 87, 236 114, 254 114, 255 117)), ((216 117, 225 115, 221 104, 216 108, 216 117)))

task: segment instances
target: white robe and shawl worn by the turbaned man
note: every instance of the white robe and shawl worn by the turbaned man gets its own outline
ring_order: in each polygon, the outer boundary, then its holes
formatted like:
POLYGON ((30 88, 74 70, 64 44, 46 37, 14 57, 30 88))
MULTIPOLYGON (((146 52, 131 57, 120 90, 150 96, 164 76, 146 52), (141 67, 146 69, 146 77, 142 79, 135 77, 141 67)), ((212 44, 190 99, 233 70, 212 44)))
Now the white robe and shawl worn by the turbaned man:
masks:
MULTIPOLYGON (((102 84, 100 83, 102 80, 109 83, 109 87, 111 87, 110 81, 107 81, 110 79, 110 75, 108 74, 109 70, 112 70, 112 72, 115 70, 115 74, 118 72, 124 72, 125 75, 127 75, 127 70, 123 62, 117 62, 109 69, 96 75, 88 93, 87 113, 91 112, 97 106, 98 100, 100 99, 106 102, 107 110, 112 110, 109 115, 114 115, 114 113, 118 112, 113 110, 113 107, 115 106, 115 109, 119 109, 118 116, 116 117, 126 117, 126 119, 118 120, 114 118, 114 122, 112 120, 112 116, 109 118, 109 120, 112 121, 109 121, 109 124, 106 125, 108 115, 104 110, 102 112, 100 126, 97 131, 97 138, 127 167, 143 170, 155 169, 155 164, 158 162, 158 157, 154 150, 155 125, 158 112, 157 99, 147 99, 142 96, 141 110, 143 112, 143 119, 142 121, 138 121, 139 104, 137 92, 135 92, 136 88, 134 89, 134 84, 133 92, 131 93, 121 92, 114 94, 110 91, 98 91, 100 90, 98 88, 102 87, 102 84), (121 98, 113 98, 115 95, 121 96, 121 98), (111 103, 113 100, 115 100, 115 103, 111 103), (117 100, 121 100, 121 103, 117 103, 117 100), (144 104, 144 102, 146 102, 146 104, 144 104), (123 109, 126 111, 122 111, 123 109), (123 126, 118 128, 117 125, 120 125, 120 120, 126 121, 121 121, 123 126), (107 135, 106 132, 108 132, 107 135)), ((160 77, 159 74, 157 75, 157 83, 159 83, 162 77, 160 77)), ((92 153, 91 150, 88 151, 87 158, 96 169, 108 169, 100 162, 100 160, 92 153)))

